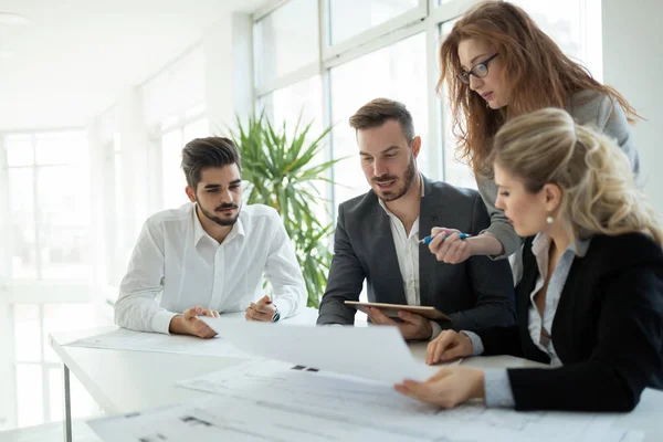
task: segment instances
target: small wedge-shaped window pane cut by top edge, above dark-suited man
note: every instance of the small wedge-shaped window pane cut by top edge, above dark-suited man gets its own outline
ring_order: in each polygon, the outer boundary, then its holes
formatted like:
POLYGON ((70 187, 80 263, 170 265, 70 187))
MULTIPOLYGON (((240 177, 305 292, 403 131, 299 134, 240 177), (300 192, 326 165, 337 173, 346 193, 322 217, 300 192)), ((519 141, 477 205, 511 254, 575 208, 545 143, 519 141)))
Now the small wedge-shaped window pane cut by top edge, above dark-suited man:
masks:
POLYGON ((419 0, 330 0, 332 44, 393 19, 418 4, 419 0))

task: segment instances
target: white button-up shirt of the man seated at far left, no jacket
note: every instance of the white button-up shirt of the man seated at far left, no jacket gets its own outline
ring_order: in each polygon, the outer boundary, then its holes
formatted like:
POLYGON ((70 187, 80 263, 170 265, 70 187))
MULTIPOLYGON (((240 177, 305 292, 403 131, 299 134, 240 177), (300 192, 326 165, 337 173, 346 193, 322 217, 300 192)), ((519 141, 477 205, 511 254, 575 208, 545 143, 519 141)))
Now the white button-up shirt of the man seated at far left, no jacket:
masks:
POLYGON ((242 207, 221 244, 202 228, 194 203, 165 210, 143 227, 119 287, 115 323, 167 334, 175 315, 197 305, 242 312, 263 296, 263 272, 282 318, 306 306, 302 270, 276 210, 242 207))

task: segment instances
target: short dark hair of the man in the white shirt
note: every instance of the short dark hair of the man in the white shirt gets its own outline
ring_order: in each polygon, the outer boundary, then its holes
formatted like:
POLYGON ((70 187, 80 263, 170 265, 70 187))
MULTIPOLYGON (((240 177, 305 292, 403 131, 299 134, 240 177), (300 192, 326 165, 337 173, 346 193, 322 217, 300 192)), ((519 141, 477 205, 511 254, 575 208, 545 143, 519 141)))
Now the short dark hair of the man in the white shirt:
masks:
POLYGON ((223 167, 235 164, 242 171, 240 152, 229 138, 208 137, 196 138, 182 149, 182 170, 187 177, 187 185, 193 191, 200 182, 200 172, 209 167, 223 167))

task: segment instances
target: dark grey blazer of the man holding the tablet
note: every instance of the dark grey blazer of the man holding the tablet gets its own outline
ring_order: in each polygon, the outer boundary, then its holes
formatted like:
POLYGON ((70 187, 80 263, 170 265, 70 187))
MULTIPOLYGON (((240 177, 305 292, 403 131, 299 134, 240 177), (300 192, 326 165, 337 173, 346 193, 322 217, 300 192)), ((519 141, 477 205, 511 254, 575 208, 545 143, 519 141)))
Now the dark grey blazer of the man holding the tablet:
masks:
MULTIPOLYGON (((420 235, 433 227, 454 228, 473 235, 491 224, 478 192, 423 179, 420 235)), ((421 305, 434 306, 452 320, 443 328, 476 330, 515 324, 514 287, 507 260, 472 256, 444 264, 421 245, 419 251, 421 305)), ((317 324, 354 324, 364 280, 368 301, 407 304, 389 215, 371 190, 341 203, 334 239, 334 259, 317 324)))

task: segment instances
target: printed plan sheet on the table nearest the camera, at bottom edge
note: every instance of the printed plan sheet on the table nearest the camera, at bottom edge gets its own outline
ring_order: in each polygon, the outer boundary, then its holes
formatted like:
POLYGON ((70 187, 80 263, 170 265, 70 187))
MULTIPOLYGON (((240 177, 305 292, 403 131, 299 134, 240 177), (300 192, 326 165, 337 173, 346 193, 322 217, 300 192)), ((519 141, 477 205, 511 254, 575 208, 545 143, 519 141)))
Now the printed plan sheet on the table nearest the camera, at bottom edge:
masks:
MULTIPOLYGON (((206 398, 172 407, 88 421, 108 442, 417 442, 407 433, 338 422, 241 398, 206 398)), ((454 441, 450 441, 454 442, 454 441)), ((460 442, 460 441, 459 441, 460 442)))

